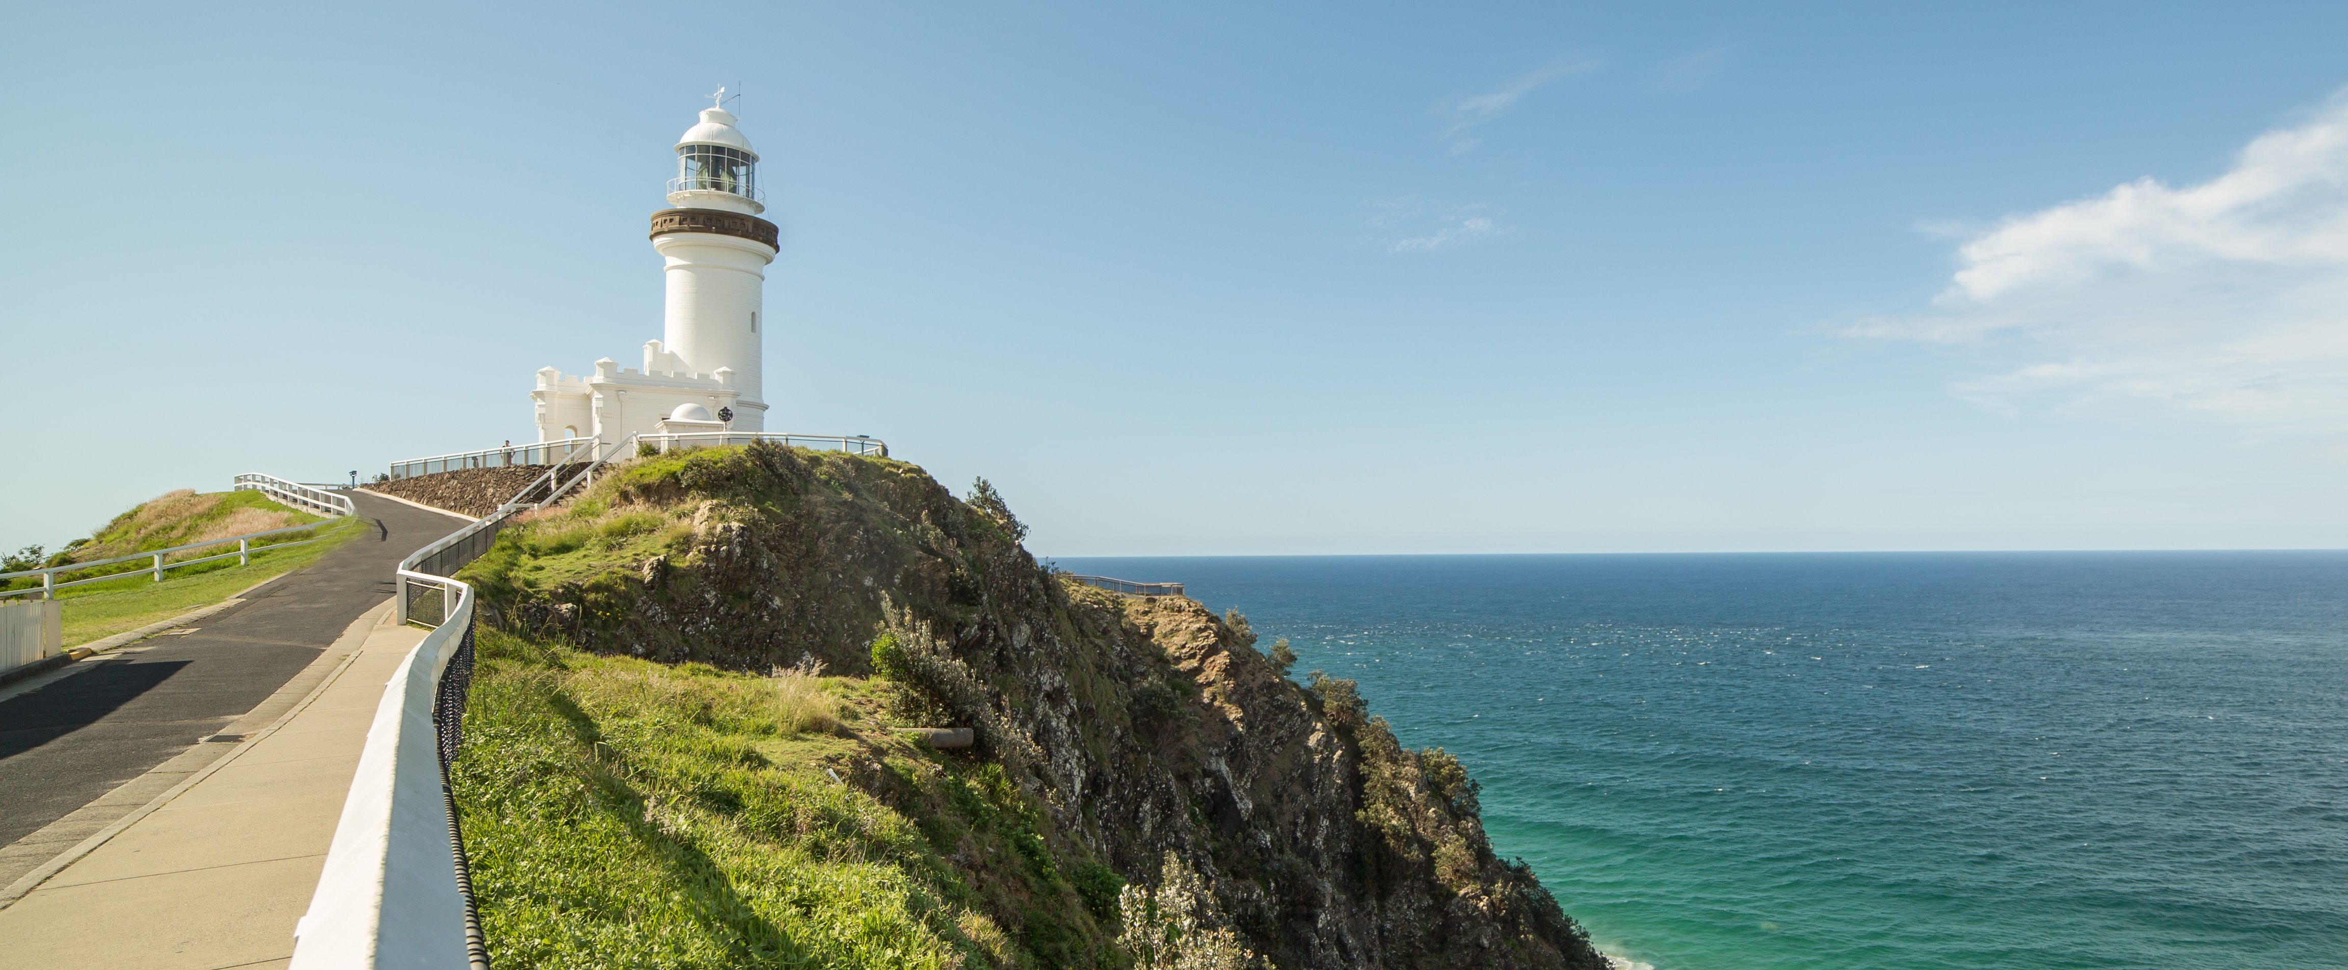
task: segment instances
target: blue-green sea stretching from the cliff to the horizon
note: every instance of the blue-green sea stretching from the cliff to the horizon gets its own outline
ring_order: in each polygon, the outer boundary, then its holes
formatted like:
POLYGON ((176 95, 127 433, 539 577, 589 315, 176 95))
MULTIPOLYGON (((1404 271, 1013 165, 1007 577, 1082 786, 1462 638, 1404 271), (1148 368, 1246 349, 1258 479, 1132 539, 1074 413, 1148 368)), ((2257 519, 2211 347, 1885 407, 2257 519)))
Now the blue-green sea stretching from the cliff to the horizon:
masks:
POLYGON ((2348 968, 2348 552, 1059 566, 1357 679, 1639 965, 2348 968))

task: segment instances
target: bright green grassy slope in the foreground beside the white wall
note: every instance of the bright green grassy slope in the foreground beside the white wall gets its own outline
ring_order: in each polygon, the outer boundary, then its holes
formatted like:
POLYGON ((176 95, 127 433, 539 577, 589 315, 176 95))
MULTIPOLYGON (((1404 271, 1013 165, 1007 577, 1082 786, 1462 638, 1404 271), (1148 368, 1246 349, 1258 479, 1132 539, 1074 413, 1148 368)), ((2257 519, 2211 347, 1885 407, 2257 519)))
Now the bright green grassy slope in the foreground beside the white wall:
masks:
POLYGON ((1118 965, 1061 876, 1101 869, 873 683, 477 644, 451 784, 498 968, 1118 965))

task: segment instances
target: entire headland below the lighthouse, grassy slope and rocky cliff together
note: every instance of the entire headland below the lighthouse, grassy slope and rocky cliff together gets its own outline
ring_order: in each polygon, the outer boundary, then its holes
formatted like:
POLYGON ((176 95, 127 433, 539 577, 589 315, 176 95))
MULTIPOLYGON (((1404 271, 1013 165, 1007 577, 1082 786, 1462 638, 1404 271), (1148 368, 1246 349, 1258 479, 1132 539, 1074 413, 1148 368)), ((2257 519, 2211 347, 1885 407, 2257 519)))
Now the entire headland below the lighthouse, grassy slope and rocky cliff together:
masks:
POLYGON ((453 770, 498 965, 1604 965, 1352 681, 1021 538, 984 481, 775 446, 507 528, 453 770))

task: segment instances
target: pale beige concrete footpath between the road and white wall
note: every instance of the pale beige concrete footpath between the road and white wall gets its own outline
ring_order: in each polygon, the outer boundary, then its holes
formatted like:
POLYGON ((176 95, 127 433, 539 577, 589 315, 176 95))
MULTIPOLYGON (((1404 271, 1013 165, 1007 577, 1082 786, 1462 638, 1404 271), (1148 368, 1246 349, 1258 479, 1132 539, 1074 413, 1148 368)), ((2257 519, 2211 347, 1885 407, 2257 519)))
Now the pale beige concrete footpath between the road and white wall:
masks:
MULTIPOLYGON (((392 625, 390 606, 352 622, 303 674, 232 721, 223 733, 244 737, 214 742, 225 754, 185 773, 171 763, 148 773, 153 782, 141 782, 162 792, 61 850, 87 855, 47 878, 21 876, 38 885, 0 909, 5 963, 286 965, 383 686, 425 636, 392 625)), ((49 846, 63 846, 63 836, 49 846)))

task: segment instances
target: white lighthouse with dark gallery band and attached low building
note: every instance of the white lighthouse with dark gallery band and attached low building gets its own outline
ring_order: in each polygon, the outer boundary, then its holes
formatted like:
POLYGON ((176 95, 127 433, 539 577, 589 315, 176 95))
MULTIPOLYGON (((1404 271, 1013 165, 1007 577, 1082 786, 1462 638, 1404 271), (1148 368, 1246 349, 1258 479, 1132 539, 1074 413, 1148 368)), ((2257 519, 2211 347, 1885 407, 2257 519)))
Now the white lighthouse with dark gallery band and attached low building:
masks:
POLYGON ((761 211, 758 153, 735 115, 702 108, 676 141, 669 209, 653 214, 653 249, 667 261, 660 341, 643 341, 643 366, 603 357, 594 373, 540 369, 540 442, 765 430, 758 315, 777 230, 761 211))

